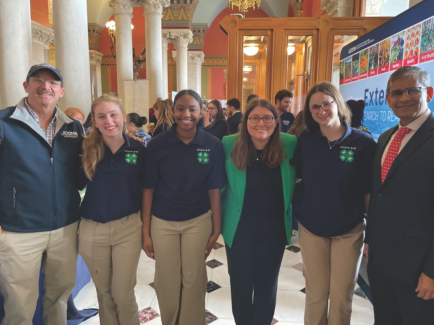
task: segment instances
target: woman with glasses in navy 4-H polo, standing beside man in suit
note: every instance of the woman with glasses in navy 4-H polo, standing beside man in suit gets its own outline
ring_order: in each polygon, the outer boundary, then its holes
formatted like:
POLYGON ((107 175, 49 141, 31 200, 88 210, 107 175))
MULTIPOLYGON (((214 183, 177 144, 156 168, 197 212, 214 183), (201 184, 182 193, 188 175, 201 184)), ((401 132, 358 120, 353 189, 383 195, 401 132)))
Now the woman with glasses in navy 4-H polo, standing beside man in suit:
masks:
POLYGON ((304 118, 295 153, 302 179, 296 217, 306 279, 304 323, 349 325, 376 143, 350 127, 351 112, 330 82, 309 90, 304 118))

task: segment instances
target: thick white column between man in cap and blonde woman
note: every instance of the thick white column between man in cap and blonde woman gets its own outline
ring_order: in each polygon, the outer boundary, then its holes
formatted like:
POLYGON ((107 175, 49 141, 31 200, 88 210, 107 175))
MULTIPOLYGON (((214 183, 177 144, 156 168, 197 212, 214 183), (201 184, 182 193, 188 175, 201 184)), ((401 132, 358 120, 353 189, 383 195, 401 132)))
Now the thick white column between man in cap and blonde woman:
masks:
POLYGON ((59 108, 74 106, 89 111, 89 39, 86 0, 53 0, 56 68, 63 77, 65 93, 59 108))

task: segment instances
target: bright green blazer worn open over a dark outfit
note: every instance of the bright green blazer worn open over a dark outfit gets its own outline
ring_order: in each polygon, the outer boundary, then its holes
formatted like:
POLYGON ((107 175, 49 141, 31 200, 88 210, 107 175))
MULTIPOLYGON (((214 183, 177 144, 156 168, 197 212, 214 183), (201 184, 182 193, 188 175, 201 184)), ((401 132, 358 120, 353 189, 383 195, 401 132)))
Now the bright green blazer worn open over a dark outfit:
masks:
MULTIPOLYGON (((222 201, 222 221, 221 234, 226 244, 231 247, 238 221, 240 221, 241 210, 244 202, 244 192, 246 190, 246 171, 241 171, 232 162, 230 153, 237 141, 239 134, 225 136, 223 138, 224 154, 226 156, 226 173, 228 184, 221 191, 222 201)), ((291 200, 294 192, 296 180, 296 167, 293 162, 294 150, 297 144, 296 136, 280 133, 285 148, 285 160, 280 165, 283 181, 283 198, 285 201, 285 228, 288 244, 292 237, 292 208, 291 200), (292 160, 291 160, 292 159, 292 160)))

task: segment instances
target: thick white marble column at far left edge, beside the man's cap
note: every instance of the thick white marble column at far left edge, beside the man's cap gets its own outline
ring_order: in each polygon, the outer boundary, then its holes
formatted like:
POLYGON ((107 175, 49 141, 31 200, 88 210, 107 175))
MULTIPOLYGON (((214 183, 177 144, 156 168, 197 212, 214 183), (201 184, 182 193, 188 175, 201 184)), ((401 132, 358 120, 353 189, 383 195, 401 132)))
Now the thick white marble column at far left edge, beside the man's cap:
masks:
POLYGON ((29 0, 0 0, 0 108, 26 96, 23 81, 32 66, 29 0))

